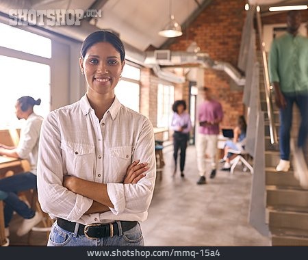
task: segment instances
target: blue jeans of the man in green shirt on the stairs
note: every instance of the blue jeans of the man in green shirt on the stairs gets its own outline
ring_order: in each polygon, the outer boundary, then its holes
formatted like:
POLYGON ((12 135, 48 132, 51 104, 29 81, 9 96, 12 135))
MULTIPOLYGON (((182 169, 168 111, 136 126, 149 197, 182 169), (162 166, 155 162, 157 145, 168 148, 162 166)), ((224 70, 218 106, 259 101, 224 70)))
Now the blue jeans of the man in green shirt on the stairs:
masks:
POLYGON ((289 160, 290 158, 290 130, 292 127, 292 107, 296 103, 300 111, 301 122, 298 131, 298 147, 303 148, 308 132, 308 94, 283 94, 287 107, 280 109, 280 131, 279 146, 281 159, 289 160))

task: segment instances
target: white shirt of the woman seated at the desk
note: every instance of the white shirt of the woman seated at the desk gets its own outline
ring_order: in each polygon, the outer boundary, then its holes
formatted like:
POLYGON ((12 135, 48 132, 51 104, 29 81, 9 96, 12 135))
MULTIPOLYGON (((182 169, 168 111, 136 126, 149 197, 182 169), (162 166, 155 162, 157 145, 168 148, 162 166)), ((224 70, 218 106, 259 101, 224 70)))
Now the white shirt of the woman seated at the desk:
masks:
POLYGON ((21 129, 21 139, 18 142, 16 153, 19 158, 27 159, 30 172, 36 174, 38 164, 38 143, 40 140, 40 127, 43 118, 34 113, 30 114, 21 129))

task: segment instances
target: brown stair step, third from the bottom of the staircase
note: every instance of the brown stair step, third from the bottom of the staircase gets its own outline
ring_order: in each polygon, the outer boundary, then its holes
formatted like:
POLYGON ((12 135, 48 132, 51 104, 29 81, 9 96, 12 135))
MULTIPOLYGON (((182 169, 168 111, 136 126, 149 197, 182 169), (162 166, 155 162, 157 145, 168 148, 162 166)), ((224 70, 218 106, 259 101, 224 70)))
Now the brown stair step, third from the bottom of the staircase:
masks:
POLYGON ((308 190, 266 187, 266 205, 275 208, 292 208, 305 212, 308 209, 308 190))

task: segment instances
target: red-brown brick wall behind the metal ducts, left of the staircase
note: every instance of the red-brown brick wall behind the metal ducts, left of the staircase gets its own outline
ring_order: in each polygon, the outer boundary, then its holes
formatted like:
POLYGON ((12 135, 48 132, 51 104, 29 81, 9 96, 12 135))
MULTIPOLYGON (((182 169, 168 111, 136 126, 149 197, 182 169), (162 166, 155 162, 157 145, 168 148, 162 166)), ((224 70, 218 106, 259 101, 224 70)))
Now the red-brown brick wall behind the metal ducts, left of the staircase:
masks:
MULTIPOLYGON (((183 32, 183 36, 170 45, 170 49, 185 51, 196 41, 201 52, 208 53, 213 60, 230 62, 237 66, 245 3, 244 0, 212 1, 183 32)), ((244 112, 242 87, 233 89, 231 79, 222 71, 205 69, 204 73, 205 85, 211 88, 214 97, 222 103, 224 109, 221 127, 234 127, 238 116, 244 112)))

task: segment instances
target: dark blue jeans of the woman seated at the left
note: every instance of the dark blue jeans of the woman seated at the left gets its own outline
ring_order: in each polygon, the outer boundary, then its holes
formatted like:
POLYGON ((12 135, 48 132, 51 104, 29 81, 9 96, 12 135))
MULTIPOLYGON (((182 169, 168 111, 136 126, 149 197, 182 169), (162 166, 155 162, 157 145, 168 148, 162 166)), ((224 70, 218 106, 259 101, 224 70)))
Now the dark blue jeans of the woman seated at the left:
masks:
POLYGON ((16 211, 23 218, 33 218, 34 210, 29 208, 23 200, 18 198, 18 192, 36 189, 36 175, 31 172, 15 174, 0 180, 0 190, 8 195, 4 207, 4 224, 8 227, 12 220, 13 212, 16 211))

